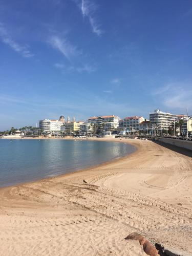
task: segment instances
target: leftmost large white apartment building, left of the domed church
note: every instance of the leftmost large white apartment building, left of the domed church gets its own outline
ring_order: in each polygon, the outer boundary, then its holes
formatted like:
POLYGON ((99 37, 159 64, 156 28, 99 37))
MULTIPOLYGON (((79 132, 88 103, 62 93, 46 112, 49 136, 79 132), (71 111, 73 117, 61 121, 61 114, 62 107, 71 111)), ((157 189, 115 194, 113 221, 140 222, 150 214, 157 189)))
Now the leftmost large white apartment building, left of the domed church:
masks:
POLYGON ((63 125, 63 122, 58 120, 39 120, 39 129, 45 133, 60 131, 61 125, 63 125))

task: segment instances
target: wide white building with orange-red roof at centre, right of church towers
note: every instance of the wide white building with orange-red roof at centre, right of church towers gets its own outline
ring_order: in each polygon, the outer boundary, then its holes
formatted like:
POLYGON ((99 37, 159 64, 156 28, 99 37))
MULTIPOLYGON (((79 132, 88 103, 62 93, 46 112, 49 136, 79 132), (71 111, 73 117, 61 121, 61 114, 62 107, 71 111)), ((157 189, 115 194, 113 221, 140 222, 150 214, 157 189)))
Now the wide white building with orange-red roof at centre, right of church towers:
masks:
POLYGON ((98 127, 103 126, 102 129, 105 131, 111 131, 119 126, 120 118, 118 116, 94 116, 88 118, 89 123, 96 124, 98 127))

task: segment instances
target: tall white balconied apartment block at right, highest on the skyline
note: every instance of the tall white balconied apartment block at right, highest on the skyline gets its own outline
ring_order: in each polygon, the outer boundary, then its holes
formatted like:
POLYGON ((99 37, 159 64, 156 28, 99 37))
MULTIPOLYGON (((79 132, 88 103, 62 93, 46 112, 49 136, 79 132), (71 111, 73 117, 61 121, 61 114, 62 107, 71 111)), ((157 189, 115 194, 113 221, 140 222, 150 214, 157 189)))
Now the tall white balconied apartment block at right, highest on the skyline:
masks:
POLYGON ((169 112, 162 112, 159 109, 150 113, 151 127, 162 127, 164 130, 168 130, 172 126, 173 122, 178 120, 178 116, 170 114, 169 112))

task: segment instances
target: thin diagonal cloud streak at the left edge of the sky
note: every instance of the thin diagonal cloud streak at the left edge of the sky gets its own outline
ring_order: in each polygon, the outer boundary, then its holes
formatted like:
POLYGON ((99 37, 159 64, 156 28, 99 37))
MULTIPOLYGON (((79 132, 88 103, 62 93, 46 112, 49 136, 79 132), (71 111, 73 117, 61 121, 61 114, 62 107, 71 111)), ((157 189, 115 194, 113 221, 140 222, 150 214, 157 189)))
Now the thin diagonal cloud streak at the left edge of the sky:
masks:
POLYGON ((19 52, 25 58, 33 57, 34 55, 29 51, 28 46, 19 45, 16 41, 14 41, 7 30, 5 29, 4 25, 0 23, 0 37, 2 41, 9 45, 14 51, 19 52))

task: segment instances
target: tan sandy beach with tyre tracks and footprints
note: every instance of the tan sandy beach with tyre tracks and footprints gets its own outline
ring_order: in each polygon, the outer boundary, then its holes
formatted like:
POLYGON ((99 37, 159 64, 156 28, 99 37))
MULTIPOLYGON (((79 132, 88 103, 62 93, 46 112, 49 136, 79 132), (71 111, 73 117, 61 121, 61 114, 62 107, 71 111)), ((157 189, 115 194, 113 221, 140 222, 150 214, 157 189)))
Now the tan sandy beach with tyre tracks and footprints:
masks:
POLYGON ((136 231, 192 255, 192 154, 152 141, 121 142, 137 152, 0 189, 0 254, 146 255, 138 241, 124 240, 136 231))

